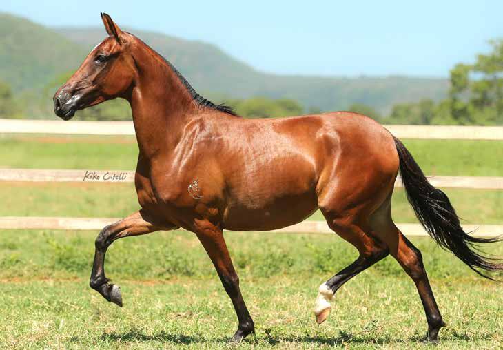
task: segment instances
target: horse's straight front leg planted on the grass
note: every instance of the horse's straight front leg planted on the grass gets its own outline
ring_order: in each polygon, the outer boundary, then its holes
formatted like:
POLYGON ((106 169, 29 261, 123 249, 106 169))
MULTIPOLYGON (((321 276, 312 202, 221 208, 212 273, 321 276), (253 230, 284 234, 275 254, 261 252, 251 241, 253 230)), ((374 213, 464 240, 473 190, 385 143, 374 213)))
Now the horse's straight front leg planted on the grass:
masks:
POLYGON ((203 244, 209 258, 212 259, 218 277, 232 301, 239 322, 238 330, 234 333, 232 340, 240 342, 250 333, 254 333, 254 321, 251 319, 241 295, 238 274, 236 274, 236 270, 232 265, 222 229, 207 220, 196 220, 194 232, 203 244))

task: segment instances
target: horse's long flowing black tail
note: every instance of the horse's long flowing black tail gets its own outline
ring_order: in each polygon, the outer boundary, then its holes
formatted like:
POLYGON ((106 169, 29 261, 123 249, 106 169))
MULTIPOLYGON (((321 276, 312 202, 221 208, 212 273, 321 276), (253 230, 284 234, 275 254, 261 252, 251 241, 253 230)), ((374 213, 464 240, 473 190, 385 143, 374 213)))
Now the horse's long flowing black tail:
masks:
POLYGON ((415 163, 414 158, 398 138, 395 138, 395 144, 407 199, 424 229, 441 247, 452 251, 477 274, 494 280, 484 274, 484 271, 503 271, 503 264, 498 263, 495 258, 481 255, 477 244, 497 242, 501 238, 478 238, 463 231, 460 219, 446 194, 428 182, 418 163, 415 163))

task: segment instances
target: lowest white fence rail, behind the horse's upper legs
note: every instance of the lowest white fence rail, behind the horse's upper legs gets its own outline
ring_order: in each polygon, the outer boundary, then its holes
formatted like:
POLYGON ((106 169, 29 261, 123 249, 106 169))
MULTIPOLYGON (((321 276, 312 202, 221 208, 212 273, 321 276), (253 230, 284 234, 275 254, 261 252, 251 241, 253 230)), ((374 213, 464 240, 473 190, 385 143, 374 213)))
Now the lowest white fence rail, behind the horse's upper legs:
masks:
MULTIPOLYGON (((114 223, 119 218, 69 218, 69 217, 36 217, 36 216, 3 216, 0 217, 0 229, 64 229, 64 230, 99 230, 114 223)), ((400 231, 406 236, 427 236, 420 224, 398 223, 400 231)), ((503 225, 463 225, 472 236, 497 237, 503 235, 503 225)), ((333 234, 325 221, 303 221, 296 225, 274 229, 267 232, 333 234)))

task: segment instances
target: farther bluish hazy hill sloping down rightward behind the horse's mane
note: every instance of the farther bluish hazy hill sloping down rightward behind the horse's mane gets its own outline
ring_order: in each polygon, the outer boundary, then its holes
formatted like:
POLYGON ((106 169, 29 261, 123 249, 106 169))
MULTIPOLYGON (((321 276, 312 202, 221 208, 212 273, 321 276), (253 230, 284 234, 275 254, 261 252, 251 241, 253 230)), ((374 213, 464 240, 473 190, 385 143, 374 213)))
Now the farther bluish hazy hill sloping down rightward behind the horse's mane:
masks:
MULTIPOLYGON (((104 38, 103 28, 56 30, 87 50, 104 38)), ((299 101, 307 108, 318 107, 321 110, 343 110, 352 103, 364 103, 389 112, 395 103, 424 98, 442 99, 449 88, 447 79, 400 76, 347 79, 265 74, 225 54, 215 45, 132 28, 127 28, 127 31, 171 61, 196 90, 209 92, 210 95, 288 98, 299 101)))

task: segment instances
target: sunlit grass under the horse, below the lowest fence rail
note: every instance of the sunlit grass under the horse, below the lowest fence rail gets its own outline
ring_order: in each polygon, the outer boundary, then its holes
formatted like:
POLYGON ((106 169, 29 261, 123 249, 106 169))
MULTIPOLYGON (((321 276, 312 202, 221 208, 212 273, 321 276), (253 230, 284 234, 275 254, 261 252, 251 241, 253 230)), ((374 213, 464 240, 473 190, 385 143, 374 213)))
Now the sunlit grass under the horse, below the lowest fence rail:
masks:
MULTIPOLYGON (((0 231, 0 347, 228 349, 236 320, 194 235, 160 232, 119 240, 107 276, 124 307, 88 287, 96 232, 0 231)), ((318 285, 356 258, 337 236, 227 234, 243 296, 256 323, 239 349, 430 349, 413 282, 393 258, 356 276, 316 325, 318 285)), ((424 256, 449 327, 442 349, 501 349, 501 285, 478 278, 426 238, 424 256)), ((503 255, 502 245, 490 252, 503 255)), ((502 277, 502 276, 500 276, 502 277)))

